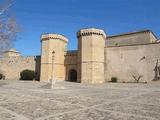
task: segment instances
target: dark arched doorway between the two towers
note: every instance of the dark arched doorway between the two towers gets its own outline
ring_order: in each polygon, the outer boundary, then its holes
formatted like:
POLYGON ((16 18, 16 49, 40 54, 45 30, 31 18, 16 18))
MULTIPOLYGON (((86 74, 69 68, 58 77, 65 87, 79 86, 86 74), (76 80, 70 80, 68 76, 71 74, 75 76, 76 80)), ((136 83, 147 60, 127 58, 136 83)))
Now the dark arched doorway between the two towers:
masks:
POLYGON ((68 81, 77 82, 77 71, 75 69, 71 69, 68 72, 68 81))

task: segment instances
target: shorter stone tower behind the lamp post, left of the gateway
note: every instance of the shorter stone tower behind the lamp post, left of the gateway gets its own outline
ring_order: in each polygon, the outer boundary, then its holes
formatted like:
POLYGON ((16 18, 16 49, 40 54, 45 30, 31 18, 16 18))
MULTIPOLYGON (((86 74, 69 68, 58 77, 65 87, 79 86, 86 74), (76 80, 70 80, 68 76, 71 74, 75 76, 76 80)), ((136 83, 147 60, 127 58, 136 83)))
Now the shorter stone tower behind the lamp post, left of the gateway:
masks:
POLYGON ((68 39, 59 34, 44 34, 41 42, 40 80, 65 80, 64 55, 68 39))

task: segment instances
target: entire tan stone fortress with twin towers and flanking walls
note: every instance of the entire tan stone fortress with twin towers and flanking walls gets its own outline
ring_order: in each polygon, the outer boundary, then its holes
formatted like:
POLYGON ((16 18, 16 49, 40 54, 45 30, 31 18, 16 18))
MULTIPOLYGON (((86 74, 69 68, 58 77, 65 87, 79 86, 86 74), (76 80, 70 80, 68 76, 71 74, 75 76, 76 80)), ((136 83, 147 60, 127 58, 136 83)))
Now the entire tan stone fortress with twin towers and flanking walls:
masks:
POLYGON ((78 50, 67 51, 68 39, 59 34, 41 37, 41 56, 23 57, 7 51, 0 60, 6 79, 19 79, 24 69, 36 72, 40 81, 104 83, 112 77, 121 82, 160 79, 160 42, 150 30, 107 36, 101 29, 81 29, 78 50))

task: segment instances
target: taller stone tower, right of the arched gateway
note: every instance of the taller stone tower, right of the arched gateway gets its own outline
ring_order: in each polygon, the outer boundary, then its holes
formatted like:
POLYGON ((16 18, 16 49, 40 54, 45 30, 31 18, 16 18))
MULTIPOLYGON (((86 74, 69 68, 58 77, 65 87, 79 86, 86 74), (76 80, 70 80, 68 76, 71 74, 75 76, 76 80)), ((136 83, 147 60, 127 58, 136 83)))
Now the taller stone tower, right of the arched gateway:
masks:
POLYGON ((78 81, 104 82, 104 48, 106 34, 103 30, 81 29, 78 37, 78 81))

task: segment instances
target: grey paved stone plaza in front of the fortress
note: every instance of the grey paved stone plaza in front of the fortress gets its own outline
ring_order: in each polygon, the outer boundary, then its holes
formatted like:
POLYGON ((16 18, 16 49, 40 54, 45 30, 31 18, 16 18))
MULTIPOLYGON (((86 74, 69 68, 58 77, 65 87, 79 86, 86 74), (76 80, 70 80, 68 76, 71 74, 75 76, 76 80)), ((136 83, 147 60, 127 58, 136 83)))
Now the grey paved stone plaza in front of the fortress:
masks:
POLYGON ((0 81, 0 120, 160 120, 160 82, 0 81))

